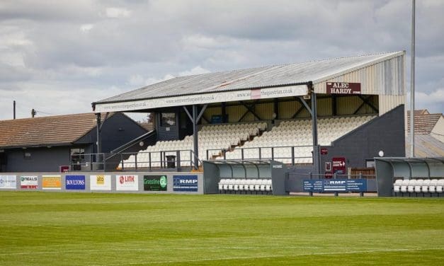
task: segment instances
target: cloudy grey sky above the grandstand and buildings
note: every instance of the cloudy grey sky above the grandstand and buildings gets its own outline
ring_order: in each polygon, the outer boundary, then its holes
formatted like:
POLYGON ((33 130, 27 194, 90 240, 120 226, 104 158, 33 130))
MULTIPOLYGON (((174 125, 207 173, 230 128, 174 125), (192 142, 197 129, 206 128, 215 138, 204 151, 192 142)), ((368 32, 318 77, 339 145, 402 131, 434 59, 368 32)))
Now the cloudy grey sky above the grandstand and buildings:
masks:
MULTIPOLYGON (((444 112, 443 14, 416 1, 415 105, 430 112, 444 112)), ((175 76, 399 50, 409 91, 409 0, 2 0, 0 120, 13 100, 17 118, 91 112, 175 76)))

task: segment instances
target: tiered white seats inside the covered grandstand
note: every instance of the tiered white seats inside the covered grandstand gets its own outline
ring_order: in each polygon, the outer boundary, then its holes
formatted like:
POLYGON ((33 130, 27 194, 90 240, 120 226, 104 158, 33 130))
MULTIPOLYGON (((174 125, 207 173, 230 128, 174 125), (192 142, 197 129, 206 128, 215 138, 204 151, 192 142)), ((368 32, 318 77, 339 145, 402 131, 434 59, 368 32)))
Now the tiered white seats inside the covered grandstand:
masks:
MULTIPOLYGON (((331 141, 351 132, 374 115, 326 117, 318 120, 319 145, 330 145, 331 141), (334 129, 334 130, 332 130, 334 129)), ((275 161, 292 163, 294 146, 295 163, 312 163, 312 122, 309 119, 287 120, 268 129, 266 122, 204 125, 199 138, 199 159, 258 159, 274 158, 275 161), (273 147, 273 148, 272 148, 273 147), (259 149, 260 148, 260 149, 259 149), (243 156, 242 156, 243 153, 243 156)), ((144 151, 120 162, 118 168, 161 167, 164 156, 176 156, 180 152, 181 166, 192 166, 193 136, 182 140, 157 141, 144 151), (161 154, 161 151, 164 153, 161 154), (150 163, 151 162, 151 163, 150 163)))

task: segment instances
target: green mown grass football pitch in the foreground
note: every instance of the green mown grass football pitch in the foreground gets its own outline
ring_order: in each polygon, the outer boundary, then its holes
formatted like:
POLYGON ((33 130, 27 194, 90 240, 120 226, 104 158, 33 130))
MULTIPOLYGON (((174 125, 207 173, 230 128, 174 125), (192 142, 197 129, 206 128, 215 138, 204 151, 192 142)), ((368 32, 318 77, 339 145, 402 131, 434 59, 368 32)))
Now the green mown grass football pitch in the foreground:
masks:
POLYGON ((0 265, 444 265, 444 200, 0 192, 0 265))

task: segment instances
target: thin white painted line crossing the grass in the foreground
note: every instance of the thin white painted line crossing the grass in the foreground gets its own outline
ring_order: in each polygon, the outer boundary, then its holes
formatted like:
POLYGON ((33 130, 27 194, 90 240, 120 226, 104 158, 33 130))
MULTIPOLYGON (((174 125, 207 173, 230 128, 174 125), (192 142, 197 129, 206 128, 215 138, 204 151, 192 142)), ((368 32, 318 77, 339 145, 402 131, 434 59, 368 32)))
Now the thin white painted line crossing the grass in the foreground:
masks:
POLYGON ((215 261, 215 260, 238 260, 238 259, 256 259, 256 258, 280 258, 280 257, 301 257, 308 255, 339 255, 339 254, 358 254, 358 253, 377 253, 377 252, 399 252, 399 251, 421 251, 421 250, 443 250, 444 248, 399 248, 399 249, 380 249, 380 250, 356 250, 345 252, 322 252, 322 253, 301 253, 294 255, 263 255, 263 256, 245 256, 245 257, 227 257, 227 258, 213 258, 213 259, 198 259, 198 260, 164 260, 158 262, 130 262, 119 264, 98 264, 89 266, 117 266, 117 265, 150 265, 150 264, 164 264, 164 263, 176 263, 176 262, 203 262, 203 261, 215 261))

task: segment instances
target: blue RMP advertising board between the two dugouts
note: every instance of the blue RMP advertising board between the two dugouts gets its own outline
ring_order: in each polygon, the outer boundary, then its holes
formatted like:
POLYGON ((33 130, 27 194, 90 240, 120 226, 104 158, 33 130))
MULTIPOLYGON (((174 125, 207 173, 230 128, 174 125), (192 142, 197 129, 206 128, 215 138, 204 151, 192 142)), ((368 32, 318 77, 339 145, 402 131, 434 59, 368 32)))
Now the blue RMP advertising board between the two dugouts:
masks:
POLYGON ((366 179, 304 180, 304 192, 365 192, 366 179))

